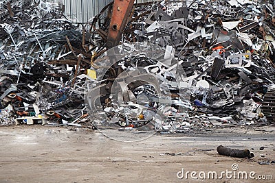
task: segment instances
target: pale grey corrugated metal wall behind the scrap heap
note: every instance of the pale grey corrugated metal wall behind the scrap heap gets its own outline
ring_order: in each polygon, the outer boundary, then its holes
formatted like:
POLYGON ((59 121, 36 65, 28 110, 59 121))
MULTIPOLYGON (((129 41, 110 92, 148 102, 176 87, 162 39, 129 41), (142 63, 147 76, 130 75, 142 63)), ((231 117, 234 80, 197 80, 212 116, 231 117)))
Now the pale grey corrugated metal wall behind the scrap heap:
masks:
MULTIPOLYGON (((105 5, 113 0, 63 0, 65 15, 73 22, 87 23, 89 19, 98 14, 105 5)), ((154 0, 135 0, 143 3, 154 0)))

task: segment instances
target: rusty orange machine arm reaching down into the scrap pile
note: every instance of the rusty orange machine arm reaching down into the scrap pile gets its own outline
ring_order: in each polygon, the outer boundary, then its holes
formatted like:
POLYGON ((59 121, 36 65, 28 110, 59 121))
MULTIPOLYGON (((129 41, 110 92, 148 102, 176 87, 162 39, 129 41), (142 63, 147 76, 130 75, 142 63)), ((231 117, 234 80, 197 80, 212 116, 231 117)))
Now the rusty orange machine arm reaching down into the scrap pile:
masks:
POLYGON ((114 0, 106 42, 107 49, 117 46, 120 42, 122 32, 133 8, 134 1, 135 0, 114 0))

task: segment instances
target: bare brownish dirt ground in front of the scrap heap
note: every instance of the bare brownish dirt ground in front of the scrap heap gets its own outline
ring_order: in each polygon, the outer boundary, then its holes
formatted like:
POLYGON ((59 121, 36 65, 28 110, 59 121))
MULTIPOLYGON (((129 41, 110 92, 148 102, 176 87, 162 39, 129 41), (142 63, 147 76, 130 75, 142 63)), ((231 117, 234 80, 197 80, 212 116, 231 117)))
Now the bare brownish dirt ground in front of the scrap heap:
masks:
POLYGON ((274 138, 272 126, 217 128, 198 134, 156 134, 135 143, 113 141, 98 131, 72 127, 0 127, 0 183, 275 182, 275 164, 259 164, 259 161, 275 160, 274 138), (255 157, 240 160, 217 156, 219 145, 247 148, 255 157), (265 148, 260 150, 260 147, 265 148), (180 179, 182 169, 184 178, 180 179), (197 174, 193 173, 191 178, 188 173, 186 178, 187 171, 197 174), (212 171, 221 179, 212 178, 212 171), (228 171, 228 177, 222 171, 228 171), (245 171, 248 179, 243 180, 239 171, 245 171), (269 175, 273 180, 258 179, 269 175))

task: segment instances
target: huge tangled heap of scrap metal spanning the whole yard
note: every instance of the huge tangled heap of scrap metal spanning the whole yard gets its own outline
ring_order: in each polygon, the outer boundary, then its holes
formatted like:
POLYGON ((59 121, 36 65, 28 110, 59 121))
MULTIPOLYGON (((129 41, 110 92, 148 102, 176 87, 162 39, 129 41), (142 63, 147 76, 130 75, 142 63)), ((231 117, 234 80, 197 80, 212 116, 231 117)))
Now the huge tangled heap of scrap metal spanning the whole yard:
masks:
POLYGON ((62 5, 0 3, 1 124, 274 123, 274 1, 138 3, 107 51, 112 5, 75 26, 62 5))

